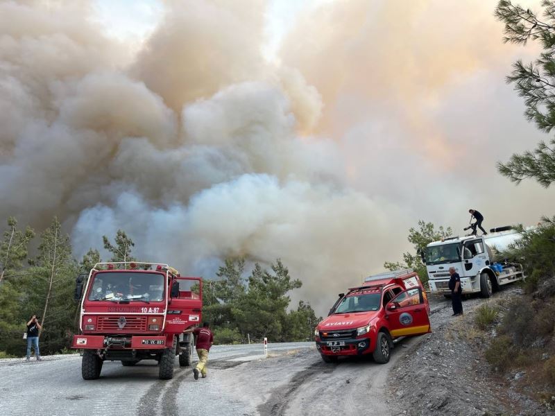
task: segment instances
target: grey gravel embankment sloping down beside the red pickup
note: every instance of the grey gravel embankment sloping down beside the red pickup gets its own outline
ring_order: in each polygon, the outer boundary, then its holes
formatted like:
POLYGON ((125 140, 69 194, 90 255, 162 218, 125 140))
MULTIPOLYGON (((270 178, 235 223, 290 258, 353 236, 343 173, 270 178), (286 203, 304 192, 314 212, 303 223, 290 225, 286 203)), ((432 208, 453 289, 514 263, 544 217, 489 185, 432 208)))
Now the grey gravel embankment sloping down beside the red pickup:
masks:
POLYGON ((555 415, 546 404, 523 395, 522 372, 497 374, 484 358, 492 333, 475 327, 477 308, 521 296, 507 288, 490 300, 463 302, 464 315, 451 309, 432 315, 433 333, 411 345, 391 369, 387 391, 391 400, 406 404, 405 415, 555 415), (435 323, 435 325, 434 325, 435 323))

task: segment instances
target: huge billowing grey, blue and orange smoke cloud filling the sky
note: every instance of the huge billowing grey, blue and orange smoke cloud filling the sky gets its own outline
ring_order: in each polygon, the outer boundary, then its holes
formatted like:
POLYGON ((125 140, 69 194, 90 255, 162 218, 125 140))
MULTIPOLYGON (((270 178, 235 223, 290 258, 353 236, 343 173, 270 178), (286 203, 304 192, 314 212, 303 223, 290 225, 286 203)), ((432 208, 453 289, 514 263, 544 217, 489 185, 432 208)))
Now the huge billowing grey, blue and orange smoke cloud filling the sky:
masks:
POLYGON ((419 219, 537 223, 552 190, 495 171, 547 137, 504 84, 537 49, 502 44, 483 3, 325 2, 276 63, 262 0, 167 1, 134 47, 89 3, 0 1, 0 217, 58 215, 77 256, 124 229, 207 278, 281 258, 320 314, 419 219))

